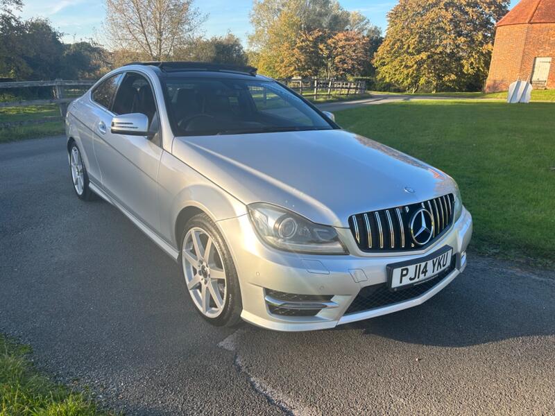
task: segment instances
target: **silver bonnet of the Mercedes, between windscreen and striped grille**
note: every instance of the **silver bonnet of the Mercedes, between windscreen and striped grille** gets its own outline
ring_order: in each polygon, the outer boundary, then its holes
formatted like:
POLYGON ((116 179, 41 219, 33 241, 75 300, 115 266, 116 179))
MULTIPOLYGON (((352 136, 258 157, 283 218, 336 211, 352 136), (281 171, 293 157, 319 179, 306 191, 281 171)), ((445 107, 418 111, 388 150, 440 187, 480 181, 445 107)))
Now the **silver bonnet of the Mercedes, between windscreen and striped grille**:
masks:
POLYGON ((456 187, 438 169, 345 130, 178 137, 172 151, 247 205, 268 202, 336 227, 456 187))

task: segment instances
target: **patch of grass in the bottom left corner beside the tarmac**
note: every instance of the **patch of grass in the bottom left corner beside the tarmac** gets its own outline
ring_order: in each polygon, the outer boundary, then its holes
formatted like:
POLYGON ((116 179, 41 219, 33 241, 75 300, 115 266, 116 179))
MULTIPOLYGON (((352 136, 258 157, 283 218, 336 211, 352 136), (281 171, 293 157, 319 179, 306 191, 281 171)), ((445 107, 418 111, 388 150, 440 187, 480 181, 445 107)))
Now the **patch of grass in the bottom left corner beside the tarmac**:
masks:
POLYGON ((83 393, 71 392, 37 372, 30 352, 0 335, 0 416, 114 415, 99 410, 83 393))

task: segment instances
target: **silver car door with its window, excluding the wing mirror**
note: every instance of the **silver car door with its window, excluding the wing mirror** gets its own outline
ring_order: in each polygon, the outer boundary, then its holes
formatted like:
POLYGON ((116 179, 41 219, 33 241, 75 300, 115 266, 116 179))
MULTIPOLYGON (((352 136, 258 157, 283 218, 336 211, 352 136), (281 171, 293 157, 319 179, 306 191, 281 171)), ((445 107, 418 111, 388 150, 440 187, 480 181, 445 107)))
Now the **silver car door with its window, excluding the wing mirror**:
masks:
POLYGON ((157 173, 162 158, 157 114, 151 83, 140 73, 127 72, 110 111, 99 117, 95 129, 104 191, 155 232, 160 229, 157 173), (114 115, 137 112, 148 116, 150 130, 156 133, 151 139, 110 131, 114 115))

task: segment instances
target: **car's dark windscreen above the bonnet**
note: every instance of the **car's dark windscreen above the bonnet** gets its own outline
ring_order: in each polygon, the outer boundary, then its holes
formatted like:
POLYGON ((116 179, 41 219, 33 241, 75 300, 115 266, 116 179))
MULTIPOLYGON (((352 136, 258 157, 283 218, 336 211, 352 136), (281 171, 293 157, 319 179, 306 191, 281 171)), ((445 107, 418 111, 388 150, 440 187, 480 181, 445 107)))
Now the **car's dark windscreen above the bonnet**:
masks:
POLYGON ((334 128, 301 98, 273 81, 167 78, 164 90, 177 136, 334 128))

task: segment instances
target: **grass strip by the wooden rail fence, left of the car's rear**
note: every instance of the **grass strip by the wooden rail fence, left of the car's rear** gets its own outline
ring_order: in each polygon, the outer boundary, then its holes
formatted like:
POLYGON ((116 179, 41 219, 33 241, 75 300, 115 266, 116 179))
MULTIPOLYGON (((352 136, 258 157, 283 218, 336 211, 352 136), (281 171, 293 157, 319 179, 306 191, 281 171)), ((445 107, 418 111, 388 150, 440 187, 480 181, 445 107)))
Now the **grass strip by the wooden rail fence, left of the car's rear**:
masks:
MULTIPOLYGON (((24 121, 42 119, 49 116, 59 116, 57 105, 32 105, 30 107, 0 108, 0 123, 10 121, 24 121)), ((22 125, 14 128, 0 128, 0 143, 21 139, 33 139, 61 135, 64 132, 62 121, 52 121, 44 124, 22 125)))

